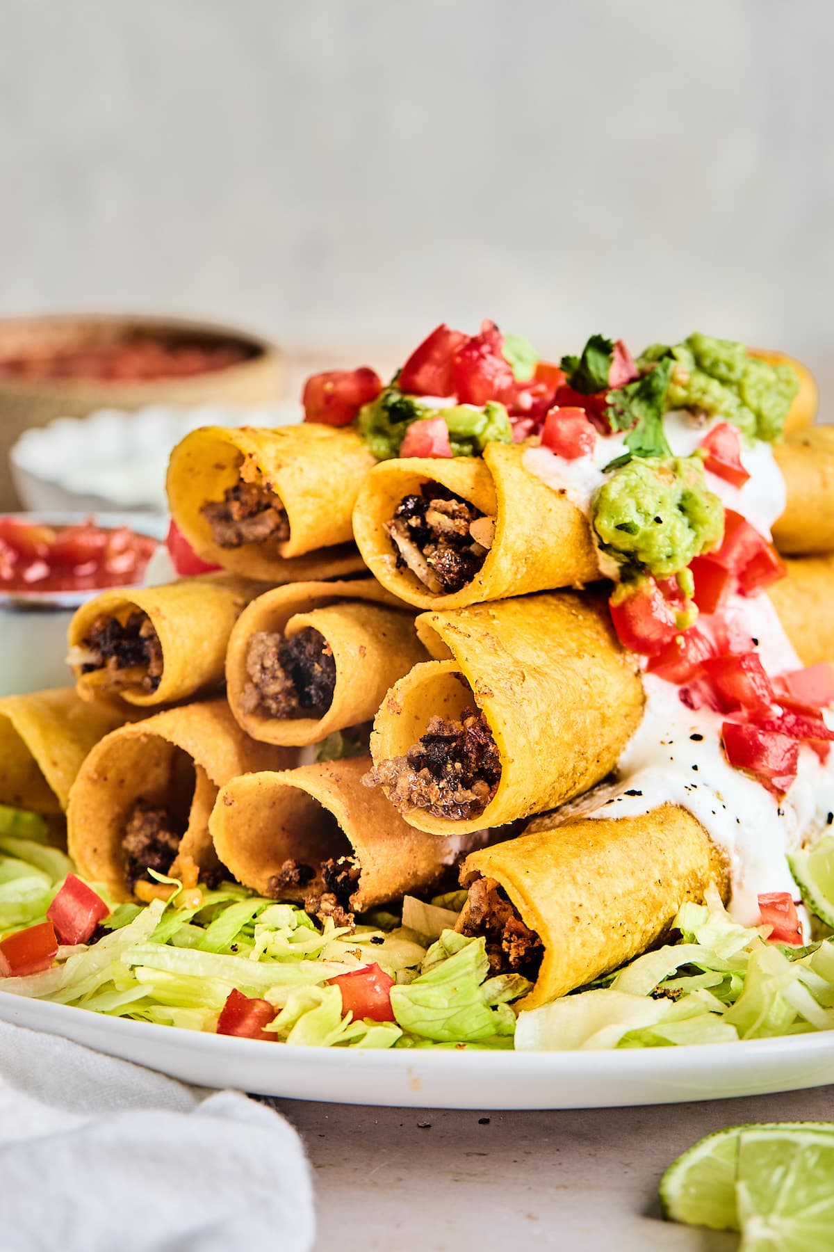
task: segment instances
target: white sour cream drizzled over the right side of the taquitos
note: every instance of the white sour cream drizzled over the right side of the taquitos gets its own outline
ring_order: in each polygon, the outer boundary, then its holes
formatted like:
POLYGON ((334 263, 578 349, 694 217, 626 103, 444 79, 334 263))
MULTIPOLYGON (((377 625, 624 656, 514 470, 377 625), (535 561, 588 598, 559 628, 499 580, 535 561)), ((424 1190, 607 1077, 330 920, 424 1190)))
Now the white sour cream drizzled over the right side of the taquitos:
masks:
MULTIPOLYGON (((689 413, 666 413, 664 428, 673 452, 689 456, 709 426, 695 422, 689 413)), ((576 461, 566 461, 544 447, 528 448, 524 466, 555 491, 566 492, 589 513, 593 495, 604 481, 603 467, 620 454, 623 442, 623 434, 599 437, 593 456, 576 461)), ((733 487, 711 473, 706 475, 709 486, 725 507, 743 513, 769 535, 785 508, 781 473, 769 443, 756 441, 743 448, 741 461, 750 473, 744 487, 733 487)), ((800 667, 766 595, 735 596, 726 616, 734 620, 739 635, 744 632, 756 641, 768 674, 800 667)), ((796 780, 779 801, 728 762, 721 747, 724 714, 688 709, 678 686, 651 674, 644 674, 643 685, 645 711, 619 760, 618 780, 565 805, 559 815, 634 818, 663 804, 680 805, 726 853, 733 886, 729 910, 738 921, 754 925, 759 920, 760 893, 790 891, 798 896, 788 854, 831 826, 834 764, 830 759, 821 764, 810 747, 801 745, 796 780)))

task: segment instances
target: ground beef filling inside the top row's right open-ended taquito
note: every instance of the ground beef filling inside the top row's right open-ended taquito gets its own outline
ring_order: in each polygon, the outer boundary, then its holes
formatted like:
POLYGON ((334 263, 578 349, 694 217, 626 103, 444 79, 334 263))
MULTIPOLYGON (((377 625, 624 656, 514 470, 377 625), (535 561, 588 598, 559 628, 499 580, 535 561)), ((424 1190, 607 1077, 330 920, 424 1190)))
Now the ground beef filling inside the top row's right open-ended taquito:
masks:
POLYGON ((408 567, 429 591, 450 595, 471 582, 493 542, 494 521, 436 482, 404 496, 385 523, 398 568, 408 567))

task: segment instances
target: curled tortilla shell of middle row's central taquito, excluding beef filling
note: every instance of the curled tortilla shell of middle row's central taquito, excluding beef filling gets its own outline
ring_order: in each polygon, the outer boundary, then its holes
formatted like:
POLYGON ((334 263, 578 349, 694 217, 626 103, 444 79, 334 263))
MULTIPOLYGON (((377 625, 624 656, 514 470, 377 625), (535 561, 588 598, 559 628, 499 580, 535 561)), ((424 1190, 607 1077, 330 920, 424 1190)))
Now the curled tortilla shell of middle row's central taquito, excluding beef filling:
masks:
POLYGON ((425 660, 414 616, 373 578, 356 582, 299 582, 253 600, 229 640, 226 682, 231 711, 244 730, 268 744, 315 744, 336 730, 370 721, 385 692, 425 660), (273 717, 245 709, 246 654, 253 635, 291 636, 305 626, 330 645, 336 685, 321 717, 273 717))

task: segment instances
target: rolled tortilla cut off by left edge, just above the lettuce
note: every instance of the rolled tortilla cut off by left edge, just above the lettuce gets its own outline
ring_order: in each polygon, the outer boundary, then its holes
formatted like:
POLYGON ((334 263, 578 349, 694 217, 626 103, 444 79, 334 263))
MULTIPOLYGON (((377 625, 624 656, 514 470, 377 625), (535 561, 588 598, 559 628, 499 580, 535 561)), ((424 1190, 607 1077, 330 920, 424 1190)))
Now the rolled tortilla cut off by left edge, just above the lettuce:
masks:
POLYGON ((74 687, 0 699, 0 804, 64 813, 85 756, 126 717, 109 701, 81 700, 74 687))

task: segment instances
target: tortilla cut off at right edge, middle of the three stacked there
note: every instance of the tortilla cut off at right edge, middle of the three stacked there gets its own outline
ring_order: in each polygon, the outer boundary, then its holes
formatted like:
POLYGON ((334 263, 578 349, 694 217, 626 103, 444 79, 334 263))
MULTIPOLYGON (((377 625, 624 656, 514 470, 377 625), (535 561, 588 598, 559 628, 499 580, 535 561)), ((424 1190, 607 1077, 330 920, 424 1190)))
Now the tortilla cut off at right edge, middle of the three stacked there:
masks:
POLYGON ((811 426, 773 449, 788 505, 773 527, 783 553, 834 552, 834 426, 811 426))

